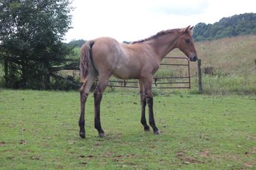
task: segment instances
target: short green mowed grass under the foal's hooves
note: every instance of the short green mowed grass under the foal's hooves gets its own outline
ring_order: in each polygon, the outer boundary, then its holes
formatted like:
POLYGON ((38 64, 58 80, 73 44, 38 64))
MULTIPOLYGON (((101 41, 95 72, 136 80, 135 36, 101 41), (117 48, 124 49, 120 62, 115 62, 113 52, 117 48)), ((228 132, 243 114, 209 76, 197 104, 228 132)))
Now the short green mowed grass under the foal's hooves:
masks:
MULTIPOLYGON (((78 135, 79 93, 0 90, 0 169, 256 169, 256 96, 154 97, 159 136, 140 125, 140 96, 105 93, 78 135)), ((148 117, 148 116, 147 116, 148 117)))

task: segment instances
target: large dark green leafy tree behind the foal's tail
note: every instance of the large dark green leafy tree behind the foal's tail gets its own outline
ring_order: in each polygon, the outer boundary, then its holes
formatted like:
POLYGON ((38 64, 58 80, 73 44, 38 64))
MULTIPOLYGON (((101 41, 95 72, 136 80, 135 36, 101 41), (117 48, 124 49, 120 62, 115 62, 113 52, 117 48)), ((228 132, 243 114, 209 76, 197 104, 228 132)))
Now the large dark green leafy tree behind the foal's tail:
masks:
POLYGON ((63 40, 68 0, 0 0, 0 62, 7 87, 50 88, 52 68, 78 62, 63 40))

